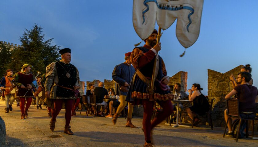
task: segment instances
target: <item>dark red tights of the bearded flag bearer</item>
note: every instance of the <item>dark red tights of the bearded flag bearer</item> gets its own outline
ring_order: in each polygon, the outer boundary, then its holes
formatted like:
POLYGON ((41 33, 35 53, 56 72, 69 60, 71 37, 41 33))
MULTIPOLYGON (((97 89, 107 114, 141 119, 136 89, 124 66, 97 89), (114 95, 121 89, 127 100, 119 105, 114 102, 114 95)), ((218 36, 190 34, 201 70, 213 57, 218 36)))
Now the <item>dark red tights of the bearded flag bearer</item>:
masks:
POLYGON ((174 109, 174 106, 171 104, 170 100, 166 101, 157 101, 157 103, 162 107, 163 111, 159 112, 157 117, 154 118, 151 122, 151 116, 154 106, 154 101, 142 100, 143 102, 143 130, 145 141, 151 141, 151 130, 154 126, 161 123, 166 117, 168 117, 174 109))

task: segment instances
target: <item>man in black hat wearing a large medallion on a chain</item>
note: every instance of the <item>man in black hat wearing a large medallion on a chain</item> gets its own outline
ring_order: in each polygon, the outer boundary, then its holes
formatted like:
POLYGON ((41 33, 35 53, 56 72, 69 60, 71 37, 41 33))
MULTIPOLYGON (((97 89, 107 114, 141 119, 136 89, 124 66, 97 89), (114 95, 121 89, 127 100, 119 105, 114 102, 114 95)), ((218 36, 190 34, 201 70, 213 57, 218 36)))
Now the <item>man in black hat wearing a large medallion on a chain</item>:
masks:
MULTIPOLYGON (((56 117, 65 103, 65 130, 64 133, 73 135, 70 130, 72 117, 72 105, 76 99, 76 90, 79 86, 79 71, 72 65, 71 49, 64 48, 59 51, 62 60, 53 62, 46 67, 45 96, 52 100, 52 119, 50 120, 50 130, 54 131, 56 117), (54 82, 54 85, 52 86, 54 82), (52 87, 51 87, 52 86, 52 87)), ((78 91, 78 90, 77 90, 78 91)))

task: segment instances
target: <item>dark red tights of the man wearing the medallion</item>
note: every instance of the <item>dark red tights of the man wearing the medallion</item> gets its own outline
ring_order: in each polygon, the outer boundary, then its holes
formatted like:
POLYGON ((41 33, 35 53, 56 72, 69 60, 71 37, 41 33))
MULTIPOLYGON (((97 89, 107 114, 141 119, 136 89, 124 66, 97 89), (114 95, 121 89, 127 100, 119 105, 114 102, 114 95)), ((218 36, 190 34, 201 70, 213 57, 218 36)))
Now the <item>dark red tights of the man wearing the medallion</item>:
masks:
POLYGON ((62 109, 63 102, 65 102, 65 125, 69 126, 72 117, 72 104, 74 100, 71 99, 56 99, 54 100, 54 109, 52 109, 52 120, 55 121, 57 115, 62 109))

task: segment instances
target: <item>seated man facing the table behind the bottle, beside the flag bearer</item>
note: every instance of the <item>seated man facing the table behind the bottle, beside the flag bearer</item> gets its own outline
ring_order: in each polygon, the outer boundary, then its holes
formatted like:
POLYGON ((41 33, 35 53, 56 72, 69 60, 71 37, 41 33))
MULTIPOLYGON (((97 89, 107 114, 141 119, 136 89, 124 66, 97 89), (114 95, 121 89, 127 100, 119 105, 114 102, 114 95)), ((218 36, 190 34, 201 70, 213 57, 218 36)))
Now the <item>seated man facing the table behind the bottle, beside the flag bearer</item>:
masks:
MULTIPOLYGON (((178 93, 181 93, 181 99, 184 99, 184 98, 188 98, 188 94, 186 94, 186 92, 184 92, 184 91, 182 91, 181 90, 181 84, 179 84, 179 83, 176 83, 175 85, 174 85, 174 91, 173 91, 173 95, 175 94, 175 91, 177 92, 177 95, 178 95, 178 93)), ((177 110, 177 102, 172 102, 172 104, 175 106, 174 107, 174 110, 177 110)), ((183 105, 182 105, 182 102, 179 102, 179 107, 178 107, 178 112, 179 112, 179 114, 181 114, 182 112, 183 112, 183 109, 184 107, 183 107, 183 105)), ((179 115, 178 114, 178 115, 179 115)), ((176 120, 176 117, 177 117, 177 114, 176 113, 174 113, 174 111, 173 111, 173 113, 171 114, 171 120, 170 120, 170 122, 172 123, 173 122, 173 119, 174 120, 176 120)))

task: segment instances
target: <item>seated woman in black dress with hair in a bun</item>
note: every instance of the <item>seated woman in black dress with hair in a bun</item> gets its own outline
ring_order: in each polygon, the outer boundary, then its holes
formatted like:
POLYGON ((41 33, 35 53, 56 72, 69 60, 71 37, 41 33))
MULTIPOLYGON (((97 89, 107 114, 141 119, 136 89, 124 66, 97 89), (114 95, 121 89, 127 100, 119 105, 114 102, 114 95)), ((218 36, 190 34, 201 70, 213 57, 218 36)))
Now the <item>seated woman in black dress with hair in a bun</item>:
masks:
POLYGON ((201 93, 200 84, 193 84, 192 89, 188 89, 189 100, 193 101, 193 106, 186 108, 186 111, 189 117, 194 119, 194 126, 197 126, 200 123, 201 119, 197 117, 198 115, 205 115, 209 111, 209 102, 206 97, 201 93), (194 115, 193 115, 194 112, 194 115))

